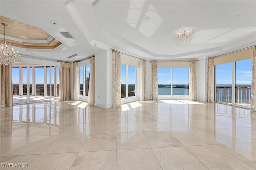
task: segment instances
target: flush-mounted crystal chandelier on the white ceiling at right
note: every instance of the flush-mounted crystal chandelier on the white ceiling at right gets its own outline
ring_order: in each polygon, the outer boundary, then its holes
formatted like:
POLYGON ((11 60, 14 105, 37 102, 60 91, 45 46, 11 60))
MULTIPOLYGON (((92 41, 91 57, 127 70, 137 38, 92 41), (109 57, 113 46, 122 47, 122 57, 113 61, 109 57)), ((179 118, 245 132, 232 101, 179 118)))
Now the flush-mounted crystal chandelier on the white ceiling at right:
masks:
POLYGON ((177 34, 174 34, 173 36, 173 40, 174 42, 177 42, 177 43, 187 43, 189 42, 190 40, 192 40, 192 38, 194 38, 195 36, 195 32, 194 30, 182 30, 182 32, 177 32, 177 34))

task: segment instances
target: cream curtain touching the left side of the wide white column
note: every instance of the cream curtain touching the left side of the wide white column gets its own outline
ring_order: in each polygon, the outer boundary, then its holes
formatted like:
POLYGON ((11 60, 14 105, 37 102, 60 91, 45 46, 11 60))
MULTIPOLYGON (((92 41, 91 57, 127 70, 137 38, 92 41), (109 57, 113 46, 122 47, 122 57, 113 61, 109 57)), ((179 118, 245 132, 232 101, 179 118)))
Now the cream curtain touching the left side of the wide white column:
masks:
POLYGON ((90 83, 88 91, 88 105, 95 102, 95 57, 90 57, 90 83))

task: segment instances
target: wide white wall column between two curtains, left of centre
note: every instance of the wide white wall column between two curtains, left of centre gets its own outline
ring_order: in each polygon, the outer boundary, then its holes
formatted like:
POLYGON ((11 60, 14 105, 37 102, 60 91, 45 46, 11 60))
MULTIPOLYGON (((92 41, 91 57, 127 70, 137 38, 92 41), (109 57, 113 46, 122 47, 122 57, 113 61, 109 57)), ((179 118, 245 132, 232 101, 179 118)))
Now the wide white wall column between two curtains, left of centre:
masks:
POLYGON ((112 51, 95 53, 95 106, 112 107, 112 51))

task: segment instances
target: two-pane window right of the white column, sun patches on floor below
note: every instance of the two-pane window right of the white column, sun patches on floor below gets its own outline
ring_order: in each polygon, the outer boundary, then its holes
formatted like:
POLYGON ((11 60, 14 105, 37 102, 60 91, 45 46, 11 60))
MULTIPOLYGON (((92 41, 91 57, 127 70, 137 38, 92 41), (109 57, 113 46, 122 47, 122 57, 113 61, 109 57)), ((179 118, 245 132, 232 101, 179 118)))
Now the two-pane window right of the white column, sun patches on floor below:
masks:
POLYGON ((121 64, 121 98, 137 96, 138 67, 121 64))

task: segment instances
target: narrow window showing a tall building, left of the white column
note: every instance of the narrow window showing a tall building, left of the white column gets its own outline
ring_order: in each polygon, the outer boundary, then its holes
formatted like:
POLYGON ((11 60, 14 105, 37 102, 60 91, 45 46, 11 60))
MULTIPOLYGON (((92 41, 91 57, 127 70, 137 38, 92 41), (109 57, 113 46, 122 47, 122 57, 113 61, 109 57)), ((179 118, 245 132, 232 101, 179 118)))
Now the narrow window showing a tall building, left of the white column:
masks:
POLYGON ((90 64, 79 67, 80 96, 88 96, 90 82, 90 64))

